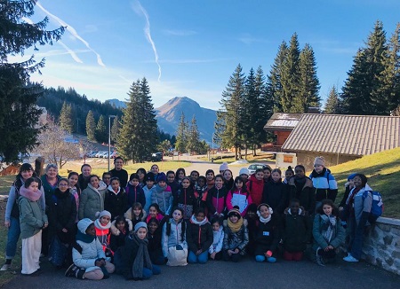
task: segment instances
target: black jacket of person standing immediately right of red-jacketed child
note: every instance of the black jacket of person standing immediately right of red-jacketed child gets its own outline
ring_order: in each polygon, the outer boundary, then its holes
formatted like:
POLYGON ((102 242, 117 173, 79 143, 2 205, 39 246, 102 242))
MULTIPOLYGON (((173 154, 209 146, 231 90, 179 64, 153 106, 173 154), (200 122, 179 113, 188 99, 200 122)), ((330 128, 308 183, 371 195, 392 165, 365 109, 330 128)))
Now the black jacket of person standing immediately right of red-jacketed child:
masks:
POLYGON ((272 207, 274 213, 282 215, 284 209, 289 205, 287 184, 284 184, 281 180, 264 184, 262 202, 272 207))

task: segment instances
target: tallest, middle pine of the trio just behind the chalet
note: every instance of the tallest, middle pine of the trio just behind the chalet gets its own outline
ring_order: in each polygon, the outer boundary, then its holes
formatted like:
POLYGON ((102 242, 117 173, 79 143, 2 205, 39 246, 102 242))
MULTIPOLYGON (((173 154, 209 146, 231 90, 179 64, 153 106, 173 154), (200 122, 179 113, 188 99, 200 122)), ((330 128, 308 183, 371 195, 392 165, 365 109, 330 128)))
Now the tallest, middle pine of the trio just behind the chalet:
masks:
POLYGON ((300 48, 297 34, 293 34, 281 73, 284 93, 281 96, 282 112, 296 113, 293 100, 300 92, 300 48))

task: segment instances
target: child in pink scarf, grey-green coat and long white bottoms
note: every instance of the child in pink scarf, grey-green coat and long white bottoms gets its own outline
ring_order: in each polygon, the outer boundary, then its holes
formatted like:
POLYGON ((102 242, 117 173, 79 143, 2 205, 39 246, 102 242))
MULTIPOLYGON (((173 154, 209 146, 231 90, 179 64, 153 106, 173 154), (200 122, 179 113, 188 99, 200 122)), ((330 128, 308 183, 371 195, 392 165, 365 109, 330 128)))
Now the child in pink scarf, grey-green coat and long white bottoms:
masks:
POLYGON ((20 237, 22 238, 22 269, 23 275, 40 274, 39 257, 42 248, 42 229, 47 228, 47 215, 39 199, 40 181, 30 177, 20 188, 20 237))

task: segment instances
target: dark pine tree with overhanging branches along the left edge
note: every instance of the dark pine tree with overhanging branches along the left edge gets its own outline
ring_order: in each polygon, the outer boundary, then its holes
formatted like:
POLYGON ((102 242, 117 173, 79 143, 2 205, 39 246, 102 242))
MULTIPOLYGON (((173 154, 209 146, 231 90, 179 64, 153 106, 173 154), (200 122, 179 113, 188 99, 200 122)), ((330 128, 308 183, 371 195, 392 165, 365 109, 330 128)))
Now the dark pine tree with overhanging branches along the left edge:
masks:
POLYGON ((40 83, 30 83, 29 75, 44 67, 44 59, 34 56, 22 63, 9 62, 8 56, 23 55, 36 43, 60 40, 64 27, 47 31, 48 19, 28 24, 24 18, 34 14, 36 2, 0 0, 0 156, 5 162, 18 160, 34 149, 41 131, 37 126, 42 110, 36 107, 43 93, 40 83))

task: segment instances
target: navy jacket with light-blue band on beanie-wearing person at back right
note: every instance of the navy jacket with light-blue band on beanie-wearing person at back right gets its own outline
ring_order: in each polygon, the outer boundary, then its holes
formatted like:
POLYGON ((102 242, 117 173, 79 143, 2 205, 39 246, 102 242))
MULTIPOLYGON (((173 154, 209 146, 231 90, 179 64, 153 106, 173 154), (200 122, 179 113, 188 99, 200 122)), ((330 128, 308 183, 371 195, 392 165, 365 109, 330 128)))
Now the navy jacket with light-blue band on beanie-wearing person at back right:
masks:
POLYGON ((313 181, 317 202, 323 199, 332 199, 333 202, 335 201, 336 195, 338 194, 338 184, 329 169, 324 168, 319 174, 314 169, 309 175, 309 178, 313 181))

